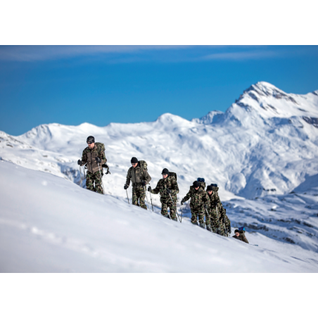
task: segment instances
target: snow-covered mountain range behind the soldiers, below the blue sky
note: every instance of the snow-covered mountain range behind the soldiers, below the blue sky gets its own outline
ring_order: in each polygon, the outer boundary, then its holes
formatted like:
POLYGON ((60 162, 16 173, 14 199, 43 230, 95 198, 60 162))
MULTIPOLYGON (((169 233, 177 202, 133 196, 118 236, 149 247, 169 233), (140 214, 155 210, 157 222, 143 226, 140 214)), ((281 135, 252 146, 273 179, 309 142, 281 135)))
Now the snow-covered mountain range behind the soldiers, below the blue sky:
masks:
MULTIPOLYGON (((164 114, 138 124, 50 124, 21 136, 0 132, 0 156, 79 184, 77 160, 89 135, 106 145, 106 193, 126 197, 123 185, 135 156, 147 161, 152 187, 167 167, 177 172, 181 201, 192 182, 204 177, 220 186, 232 226, 245 225, 250 235, 287 242, 299 253, 318 251, 318 91, 286 94, 258 82, 225 113, 191 121, 164 114)), ((158 195, 152 200, 160 206, 158 195)), ((189 205, 184 213, 189 217, 189 205)))

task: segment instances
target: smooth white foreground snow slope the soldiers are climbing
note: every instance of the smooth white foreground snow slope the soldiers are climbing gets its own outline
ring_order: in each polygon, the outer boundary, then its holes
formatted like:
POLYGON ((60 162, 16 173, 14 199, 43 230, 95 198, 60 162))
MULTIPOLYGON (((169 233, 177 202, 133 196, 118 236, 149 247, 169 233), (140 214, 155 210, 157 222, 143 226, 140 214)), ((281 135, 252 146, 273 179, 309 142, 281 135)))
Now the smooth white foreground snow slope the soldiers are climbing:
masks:
POLYGON ((3 160, 0 173, 1 272, 318 271, 312 257, 174 222, 53 174, 3 160))

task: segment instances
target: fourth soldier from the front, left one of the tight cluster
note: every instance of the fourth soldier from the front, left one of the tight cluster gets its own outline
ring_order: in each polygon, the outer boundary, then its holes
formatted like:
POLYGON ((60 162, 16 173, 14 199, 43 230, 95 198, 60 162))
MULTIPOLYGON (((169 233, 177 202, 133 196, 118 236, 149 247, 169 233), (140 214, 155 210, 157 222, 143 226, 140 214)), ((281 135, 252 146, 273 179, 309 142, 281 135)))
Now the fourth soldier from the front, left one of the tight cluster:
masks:
POLYGON ((204 229, 205 205, 208 209, 210 208, 208 193, 203 190, 198 181, 195 181, 193 182, 193 187, 190 187, 189 192, 182 199, 181 204, 184 204, 189 198, 191 198, 191 223, 198 225, 199 220, 200 227, 204 229))

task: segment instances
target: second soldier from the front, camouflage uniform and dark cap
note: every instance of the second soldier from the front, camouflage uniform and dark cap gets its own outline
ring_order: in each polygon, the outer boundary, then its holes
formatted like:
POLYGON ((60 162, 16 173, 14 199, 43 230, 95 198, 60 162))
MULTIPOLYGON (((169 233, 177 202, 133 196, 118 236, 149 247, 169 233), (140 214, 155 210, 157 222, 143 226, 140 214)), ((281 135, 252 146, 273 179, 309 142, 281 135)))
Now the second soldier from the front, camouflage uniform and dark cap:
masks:
POLYGON ((132 204, 140 206, 147 210, 147 205, 145 203, 146 198, 146 184, 151 181, 151 176, 148 174, 148 171, 144 168, 144 165, 138 161, 136 157, 132 157, 130 160, 132 167, 129 168, 126 177, 126 184, 124 189, 128 189, 130 180, 132 181, 132 204), (139 203, 138 203, 139 200, 139 203))

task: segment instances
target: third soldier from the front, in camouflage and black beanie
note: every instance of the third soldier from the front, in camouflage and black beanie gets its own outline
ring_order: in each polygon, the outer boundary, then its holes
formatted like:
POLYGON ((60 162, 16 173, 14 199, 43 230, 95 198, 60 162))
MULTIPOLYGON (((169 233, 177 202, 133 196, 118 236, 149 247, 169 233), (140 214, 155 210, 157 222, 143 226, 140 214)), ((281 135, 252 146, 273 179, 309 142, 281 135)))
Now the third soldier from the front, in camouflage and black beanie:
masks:
POLYGON ((169 170, 166 168, 163 169, 163 179, 158 181, 155 189, 151 189, 151 186, 148 186, 148 191, 153 194, 160 193, 160 202, 161 202, 161 214, 164 217, 170 217, 170 219, 177 221, 176 207, 177 207, 177 193, 179 193, 179 186, 177 184, 176 178, 170 176, 169 170), (172 198, 172 200, 171 200, 172 198), (170 209, 170 216, 168 214, 168 207, 170 209))

